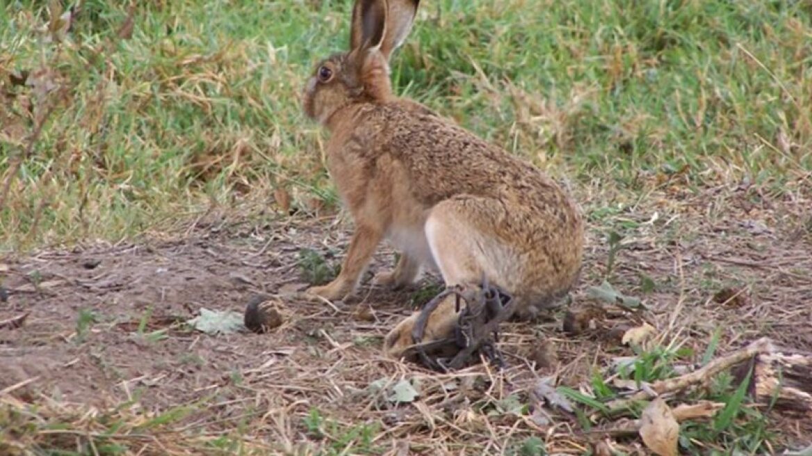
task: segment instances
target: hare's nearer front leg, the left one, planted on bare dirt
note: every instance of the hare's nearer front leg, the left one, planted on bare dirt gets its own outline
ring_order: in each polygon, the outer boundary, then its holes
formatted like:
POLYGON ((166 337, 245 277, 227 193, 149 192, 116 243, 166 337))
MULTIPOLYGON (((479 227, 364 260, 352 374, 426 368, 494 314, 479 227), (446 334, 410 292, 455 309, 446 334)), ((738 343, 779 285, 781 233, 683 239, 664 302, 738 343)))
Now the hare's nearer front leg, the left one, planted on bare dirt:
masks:
POLYGON ((344 299, 355 291, 369 260, 372 258, 378 243, 383 239, 382 230, 371 225, 360 225, 352 234, 347 257, 341 265, 339 277, 325 286, 312 286, 307 292, 319 295, 330 301, 344 299))

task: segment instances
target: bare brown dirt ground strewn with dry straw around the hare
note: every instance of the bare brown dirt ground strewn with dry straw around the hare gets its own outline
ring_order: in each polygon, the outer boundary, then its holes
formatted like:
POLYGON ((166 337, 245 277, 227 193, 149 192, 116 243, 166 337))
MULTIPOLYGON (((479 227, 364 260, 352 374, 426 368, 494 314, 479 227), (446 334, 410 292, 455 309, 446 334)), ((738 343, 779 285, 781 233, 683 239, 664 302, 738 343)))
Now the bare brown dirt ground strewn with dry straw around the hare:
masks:
MULTIPOLYGON (((668 207, 652 196, 645 209, 593 218, 570 306, 590 303, 587 287, 603 281, 607 226, 632 226, 610 280, 643 299, 646 320, 664 341, 680 340, 701 354, 720 327, 720 353, 761 336, 812 351, 807 202, 754 203, 740 193, 708 191, 668 207), (721 209, 727 214, 716 217, 721 209), (654 212, 659 217, 652 222, 654 212), (647 293, 644 276, 656 285, 647 293), (742 290, 741 299, 717 302, 714 295, 725 287, 742 290)), ((407 454, 406 448, 408 454, 462 454, 469 445, 499 453, 533 433, 561 452, 580 454, 585 443, 573 437, 572 420, 544 426, 516 415, 483 419, 467 407, 524 391, 539 376, 555 374, 559 385, 577 388, 589 382, 593 368, 632 354, 606 331, 563 333, 562 310, 532 325, 506 326, 501 346, 508 369, 501 375, 485 366, 441 375, 385 359, 382 337, 410 312, 420 285, 397 293, 364 285, 357 299, 335 306, 290 301, 284 325, 268 334, 199 333, 181 323, 201 308, 242 312, 256 293, 306 286, 298 252, 334 252, 338 261, 350 229, 296 217, 207 219, 172 239, 96 243, 0 261, 9 291, 0 320, 30 312, 21 328, 0 329, 0 389, 28 402, 51 398, 98 408, 137 398, 138 407, 155 413, 198 403, 184 429, 212 434, 239 424, 244 438, 271 451, 313 444, 303 421, 317 409, 339 427, 382 422, 375 442, 392 454, 407 454), (85 324, 87 311, 95 318, 85 324), (166 329, 165 338, 146 335, 159 329, 166 329), (542 340, 554 347, 558 362, 533 364, 542 340), (366 394, 372 381, 402 377, 420 381, 416 402, 393 406, 366 394), (451 381, 457 386, 448 387, 451 381)), ((392 258, 380 252, 370 274, 390 267, 392 258)), ((422 284, 433 281, 425 277, 422 284)), ((812 443, 808 423, 805 430, 801 421, 773 418, 786 441, 812 443)))

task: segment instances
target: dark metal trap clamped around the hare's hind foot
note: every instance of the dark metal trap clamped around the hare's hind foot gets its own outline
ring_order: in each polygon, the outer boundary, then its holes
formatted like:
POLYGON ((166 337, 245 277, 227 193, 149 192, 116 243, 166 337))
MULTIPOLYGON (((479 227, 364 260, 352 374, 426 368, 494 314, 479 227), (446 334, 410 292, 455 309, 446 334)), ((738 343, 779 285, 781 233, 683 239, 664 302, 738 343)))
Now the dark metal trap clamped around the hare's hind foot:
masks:
POLYGON ((485 279, 480 286, 450 286, 443 290, 425 304, 412 329, 412 340, 417 344, 415 348, 421 362, 427 368, 449 372, 462 368, 473 356, 482 353, 491 364, 503 368, 502 355, 496 348, 496 342, 499 342, 499 323, 508 320, 513 313, 512 303, 510 295, 490 286, 485 279), (459 313, 454 337, 421 344, 429 317, 449 295, 455 295, 456 312, 459 313), (460 301, 465 303, 461 312, 460 301), (450 360, 429 355, 430 351, 449 349, 456 351, 450 360))

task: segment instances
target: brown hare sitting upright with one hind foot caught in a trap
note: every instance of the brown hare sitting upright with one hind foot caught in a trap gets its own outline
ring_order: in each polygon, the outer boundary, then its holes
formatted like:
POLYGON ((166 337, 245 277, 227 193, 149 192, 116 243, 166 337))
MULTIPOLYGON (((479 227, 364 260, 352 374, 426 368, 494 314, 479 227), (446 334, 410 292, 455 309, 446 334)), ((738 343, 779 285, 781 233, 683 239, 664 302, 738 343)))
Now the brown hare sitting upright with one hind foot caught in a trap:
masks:
MULTIPOLYGON (((412 28, 419 0, 356 0, 349 51, 315 67, 303 110, 330 132, 327 167, 355 222, 341 272, 307 291, 352 295, 379 243, 400 252, 383 286, 434 269, 446 286, 483 277, 529 318, 571 289, 581 268, 581 209, 552 179, 432 110, 392 93, 389 60, 412 28)), ((400 358, 419 312, 384 340, 400 358)), ((453 299, 430 315, 424 342, 454 331, 453 299)))

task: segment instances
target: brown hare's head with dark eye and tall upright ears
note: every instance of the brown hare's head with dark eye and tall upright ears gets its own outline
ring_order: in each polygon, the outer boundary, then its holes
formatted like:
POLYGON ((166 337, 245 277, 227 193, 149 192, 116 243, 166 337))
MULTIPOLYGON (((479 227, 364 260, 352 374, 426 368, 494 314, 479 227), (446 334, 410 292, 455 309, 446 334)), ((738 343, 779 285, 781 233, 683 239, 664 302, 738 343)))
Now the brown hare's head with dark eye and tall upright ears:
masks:
POLYGON ((348 52, 319 62, 304 88, 304 113, 320 123, 357 102, 391 97, 389 58, 412 29, 420 0, 356 0, 348 52))

